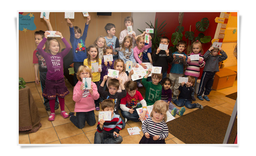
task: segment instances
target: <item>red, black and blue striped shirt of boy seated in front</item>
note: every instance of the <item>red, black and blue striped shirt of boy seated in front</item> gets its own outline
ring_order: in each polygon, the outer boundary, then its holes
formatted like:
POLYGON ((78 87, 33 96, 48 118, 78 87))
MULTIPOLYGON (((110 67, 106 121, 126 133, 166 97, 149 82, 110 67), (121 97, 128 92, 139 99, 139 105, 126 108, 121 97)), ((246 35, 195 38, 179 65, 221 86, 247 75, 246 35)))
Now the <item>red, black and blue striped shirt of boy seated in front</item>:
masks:
POLYGON ((123 122, 122 122, 120 116, 116 115, 114 113, 113 118, 111 119, 111 121, 105 121, 104 122, 104 125, 103 125, 102 129, 100 128, 100 122, 98 122, 97 131, 102 132, 104 130, 104 131, 108 131, 110 133, 112 133, 114 131, 116 133, 119 133, 119 131, 122 129, 122 126, 123 126, 123 122))

